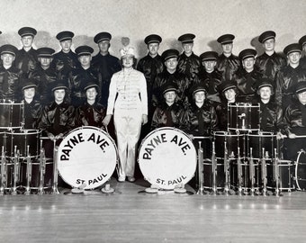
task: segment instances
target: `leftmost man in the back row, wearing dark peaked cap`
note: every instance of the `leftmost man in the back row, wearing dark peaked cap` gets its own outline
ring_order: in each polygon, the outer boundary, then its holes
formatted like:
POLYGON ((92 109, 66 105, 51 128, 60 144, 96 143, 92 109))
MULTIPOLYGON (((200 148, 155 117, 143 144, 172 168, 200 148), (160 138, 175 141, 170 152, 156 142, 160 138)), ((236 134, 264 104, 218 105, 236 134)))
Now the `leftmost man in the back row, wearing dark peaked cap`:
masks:
POLYGON ((21 36, 23 48, 16 53, 15 66, 23 71, 23 77, 27 78, 37 65, 37 50, 32 44, 37 31, 31 27, 23 27, 18 31, 21 36))

